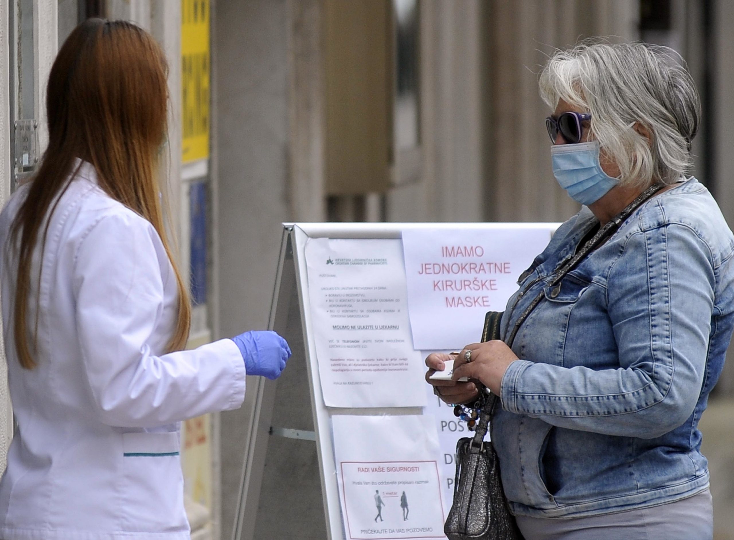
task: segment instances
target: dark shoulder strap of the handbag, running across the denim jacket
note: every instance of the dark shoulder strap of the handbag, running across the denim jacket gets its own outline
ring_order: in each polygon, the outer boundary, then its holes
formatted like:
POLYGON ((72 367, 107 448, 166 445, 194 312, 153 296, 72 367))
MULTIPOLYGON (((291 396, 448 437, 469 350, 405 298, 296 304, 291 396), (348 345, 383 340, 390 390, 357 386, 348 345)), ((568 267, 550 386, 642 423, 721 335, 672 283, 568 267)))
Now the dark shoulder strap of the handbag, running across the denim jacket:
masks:
MULTIPOLYGON (((611 235, 614 234, 617 229, 619 229, 619 226, 621 226, 622 223, 624 223, 627 218, 629 218, 630 215, 632 215, 632 213, 644 203, 644 201, 650 199, 650 197, 655 195, 655 193, 658 193, 658 191, 660 191, 664 187, 665 186, 663 184, 655 183, 651 185, 650 188, 647 188, 645 191, 640 193, 640 195, 634 201, 628 204, 627 207, 622 210, 622 212, 619 212, 619 214, 615 215, 614 218, 611 218, 611 220, 608 221, 605 226, 599 229, 599 231, 592 237, 591 240, 588 240, 586 243, 584 243, 584 246, 580 250, 578 250, 573 256, 569 256, 563 259, 559 263, 558 267, 556 267, 556 270, 553 271, 553 275, 548 284, 554 286, 560 291, 561 281, 563 280, 563 278, 571 270, 577 267, 578 264, 583 261, 589 253, 594 251, 595 248, 597 248, 605 240, 607 240, 608 237, 611 237, 611 235)), ((515 336, 517 336, 517 330, 520 330, 520 326, 523 324, 523 322, 526 321, 526 319, 530 316, 530 314, 538 306, 538 304, 542 302, 543 298, 545 298, 545 290, 541 291, 539 295, 537 295, 537 297, 535 297, 530 305, 526 308, 526 310, 523 311, 520 317, 518 317, 517 321, 515 322, 515 326, 512 328, 512 332, 510 333, 509 338, 505 341, 507 347, 512 348, 512 344, 515 342, 515 336)), ((485 401, 484 405, 482 406, 482 410, 479 413, 479 422, 477 422, 474 437, 471 441, 471 444, 469 445, 469 451, 473 454, 477 454, 482 451, 484 445, 484 435, 487 434, 487 427, 490 424, 490 419, 494 414, 495 407, 498 402, 497 396, 491 393, 488 388, 484 388, 484 396, 485 401)))

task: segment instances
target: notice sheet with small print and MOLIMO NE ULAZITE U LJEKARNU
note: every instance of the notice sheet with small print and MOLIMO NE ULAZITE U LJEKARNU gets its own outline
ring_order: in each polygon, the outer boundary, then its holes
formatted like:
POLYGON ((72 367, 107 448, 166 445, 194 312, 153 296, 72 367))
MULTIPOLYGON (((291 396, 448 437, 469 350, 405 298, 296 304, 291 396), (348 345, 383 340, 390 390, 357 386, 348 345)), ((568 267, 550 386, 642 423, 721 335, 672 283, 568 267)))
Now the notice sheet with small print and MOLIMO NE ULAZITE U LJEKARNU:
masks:
POLYGON ((426 404, 400 240, 311 238, 305 255, 324 404, 426 404))

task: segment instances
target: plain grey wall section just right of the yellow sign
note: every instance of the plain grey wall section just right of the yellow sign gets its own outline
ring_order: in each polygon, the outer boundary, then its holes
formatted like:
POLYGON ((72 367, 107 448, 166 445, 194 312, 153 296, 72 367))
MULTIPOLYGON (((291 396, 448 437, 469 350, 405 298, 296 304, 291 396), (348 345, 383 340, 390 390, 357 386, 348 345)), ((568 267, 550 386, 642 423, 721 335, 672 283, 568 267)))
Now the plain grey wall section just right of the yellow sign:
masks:
MULTIPOLYGON (((288 198, 288 43, 286 0, 218 1, 214 7, 214 156, 217 216, 215 334, 264 329, 288 198)), ((245 404, 221 413, 222 539, 232 536, 247 426, 245 404)))

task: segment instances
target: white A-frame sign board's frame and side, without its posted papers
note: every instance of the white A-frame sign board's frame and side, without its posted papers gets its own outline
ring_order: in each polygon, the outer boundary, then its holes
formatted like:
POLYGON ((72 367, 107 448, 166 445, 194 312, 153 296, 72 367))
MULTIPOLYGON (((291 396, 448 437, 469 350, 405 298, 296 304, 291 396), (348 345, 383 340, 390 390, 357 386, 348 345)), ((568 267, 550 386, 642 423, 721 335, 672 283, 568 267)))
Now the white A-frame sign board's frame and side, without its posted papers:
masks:
MULTIPOLYGON (((326 407, 310 317, 309 238, 401 238, 407 229, 547 229, 557 223, 284 223, 269 328, 293 351, 277 382, 249 383, 251 422, 234 540, 343 539, 333 415, 420 415, 420 407, 326 407)), ((247 406, 246 402, 246 406, 247 406)))

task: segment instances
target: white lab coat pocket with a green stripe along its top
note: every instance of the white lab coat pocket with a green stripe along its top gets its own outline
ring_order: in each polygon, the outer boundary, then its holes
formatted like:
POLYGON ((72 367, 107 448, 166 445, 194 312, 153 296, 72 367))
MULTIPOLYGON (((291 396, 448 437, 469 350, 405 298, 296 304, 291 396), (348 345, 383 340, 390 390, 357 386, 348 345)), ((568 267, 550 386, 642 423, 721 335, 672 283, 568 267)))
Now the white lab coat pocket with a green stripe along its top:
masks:
POLYGON ((123 433, 123 529, 188 530, 177 432, 123 433))

